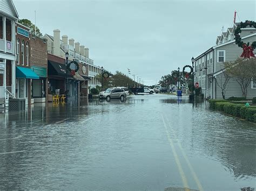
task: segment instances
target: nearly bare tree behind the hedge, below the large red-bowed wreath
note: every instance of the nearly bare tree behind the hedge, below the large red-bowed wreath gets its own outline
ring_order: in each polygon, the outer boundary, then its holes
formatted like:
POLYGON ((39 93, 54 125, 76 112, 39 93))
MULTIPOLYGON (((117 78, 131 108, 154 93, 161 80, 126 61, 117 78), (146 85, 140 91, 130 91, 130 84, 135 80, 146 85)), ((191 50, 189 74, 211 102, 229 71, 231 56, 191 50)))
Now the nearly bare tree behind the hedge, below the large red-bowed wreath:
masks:
POLYGON ((237 59, 234 62, 226 62, 226 72, 234 77, 242 90, 242 96, 247 97, 247 88, 256 75, 256 59, 237 59))

